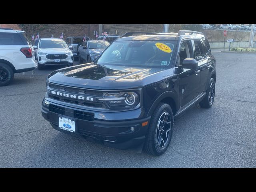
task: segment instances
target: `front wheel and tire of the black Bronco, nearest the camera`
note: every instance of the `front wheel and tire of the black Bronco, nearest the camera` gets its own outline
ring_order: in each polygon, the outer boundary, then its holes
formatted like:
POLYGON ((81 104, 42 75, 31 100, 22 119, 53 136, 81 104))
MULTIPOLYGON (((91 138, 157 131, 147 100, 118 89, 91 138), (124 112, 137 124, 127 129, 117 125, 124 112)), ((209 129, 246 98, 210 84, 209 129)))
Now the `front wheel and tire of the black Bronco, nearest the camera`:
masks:
POLYGON ((144 149, 147 153, 159 156, 163 154, 172 138, 174 117, 172 108, 166 103, 160 103, 150 120, 144 149))

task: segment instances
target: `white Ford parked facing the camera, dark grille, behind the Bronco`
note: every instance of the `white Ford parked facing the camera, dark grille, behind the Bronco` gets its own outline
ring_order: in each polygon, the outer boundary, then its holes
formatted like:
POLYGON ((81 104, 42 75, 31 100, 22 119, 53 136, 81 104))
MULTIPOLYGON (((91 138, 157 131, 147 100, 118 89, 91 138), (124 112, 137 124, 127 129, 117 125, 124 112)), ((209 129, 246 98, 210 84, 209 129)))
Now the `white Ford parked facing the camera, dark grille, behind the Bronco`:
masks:
POLYGON ((34 48, 36 49, 39 70, 49 65, 73 66, 74 58, 70 50, 72 46, 68 46, 62 39, 40 38, 38 46, 34 46, 34 48))

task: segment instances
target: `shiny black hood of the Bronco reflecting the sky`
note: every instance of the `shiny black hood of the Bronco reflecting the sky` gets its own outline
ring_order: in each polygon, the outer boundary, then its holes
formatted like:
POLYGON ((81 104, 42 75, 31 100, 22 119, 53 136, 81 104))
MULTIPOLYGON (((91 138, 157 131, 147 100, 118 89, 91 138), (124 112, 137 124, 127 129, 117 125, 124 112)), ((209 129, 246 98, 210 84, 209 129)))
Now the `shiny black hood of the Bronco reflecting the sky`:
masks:
POLYGON ((141 88, 168 78, 173 70, 128 66, 82 64, 56 70, 48 75, 48 82, 100 90, 141 88))

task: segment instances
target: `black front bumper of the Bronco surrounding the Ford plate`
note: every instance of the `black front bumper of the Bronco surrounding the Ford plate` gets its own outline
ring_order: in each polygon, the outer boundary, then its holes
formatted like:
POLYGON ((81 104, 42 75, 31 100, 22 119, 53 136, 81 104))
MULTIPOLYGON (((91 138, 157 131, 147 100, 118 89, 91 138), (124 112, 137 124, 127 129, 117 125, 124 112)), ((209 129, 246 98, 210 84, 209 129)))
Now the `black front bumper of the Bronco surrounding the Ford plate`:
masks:
MULTIPOLYGON (((53 103, 50 103, 49 108, 42 106, 42 116, 52 124, 54 129, 118 149, 128 149, 143 144, 150 121, 150 117, 136 120, 129 120, 127 118, 121 121, 116 121, 114 117, 113 119, 99 120, 95 118, 96 115, 92 119, 84 120, 83 116, 77 116, 77 113, 85 114, 88 112, 53 103), (61 108, 64 112, 52 110, 51 105, 61 108), (69 132, 60 129, 59 117, 65 117, 75 121, 76 131, 69 132), (146 121, 148 121, 148 125, 142 126, 142 122, 146 121), (132 127, 134 128, 133 131, 131 130, 132 127)), ((108 116, 107 113, 110 112, 102 112, 101 116, 108 116)), ((90 111, 90 114, 94 113, 90 111)), ((126 112, 119 112, 118 115, 127 117, 126 112)))

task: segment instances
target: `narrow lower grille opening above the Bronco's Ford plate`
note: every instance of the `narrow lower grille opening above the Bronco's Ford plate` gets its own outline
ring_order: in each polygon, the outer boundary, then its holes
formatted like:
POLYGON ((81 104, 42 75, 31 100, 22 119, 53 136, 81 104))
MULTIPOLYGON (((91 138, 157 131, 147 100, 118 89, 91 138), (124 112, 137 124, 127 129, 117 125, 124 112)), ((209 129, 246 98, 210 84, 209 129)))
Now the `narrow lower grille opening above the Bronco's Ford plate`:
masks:
POLYGON ((93 121, 94 120, 94 113, 79 111, 79 110, 72 110, 64 107, 60 107, 57 105, 50 104, 49 111, 60 114, 66 115, 70 117, 74 117, 77 119, 82 119, 86 121, 93 121))

